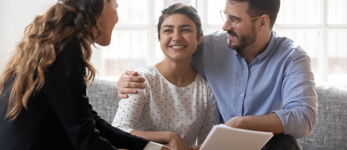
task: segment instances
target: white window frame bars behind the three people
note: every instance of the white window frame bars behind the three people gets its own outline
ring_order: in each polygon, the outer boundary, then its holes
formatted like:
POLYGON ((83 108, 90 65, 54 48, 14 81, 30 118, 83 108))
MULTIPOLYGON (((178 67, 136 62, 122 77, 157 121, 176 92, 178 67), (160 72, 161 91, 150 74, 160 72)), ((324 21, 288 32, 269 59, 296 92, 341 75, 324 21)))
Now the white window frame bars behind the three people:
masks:
MULTIPOLYGON (((208 24, 208 0, 197 0, 197 11, 201 17, 201 21, 204 30, 222 30, 221 25, 209 25, 208 24)), ((155 28, 155 0, 147 0, 148 7, 148 25, 116 25, 113 32, 147 32, 147 64, 155 63, 155 43, 156 43, 156 28, 155 28)), ((221 8, 223 9, 223 8, 221 8)), ((320 79, 316 81, 328 81, 328 32, 329 31, 347 31, 347 24, 343 25, 329 25, 328 24, 328 0, 320 0, 320 18, 321 23, 319 25, 278 25, 275 23, 273 30, 286 32, 286 31, 315 31, 319 33, 319 58, 318 69, 320 79)), ((98 50, 95 50, 96 54, 92 62, 95 68, 99 71, 98 78, 103 76, 103 60, 102 60, 102 48, 99 46, 98 50), (96 58, 95 58, 96 57, 96 58)))

